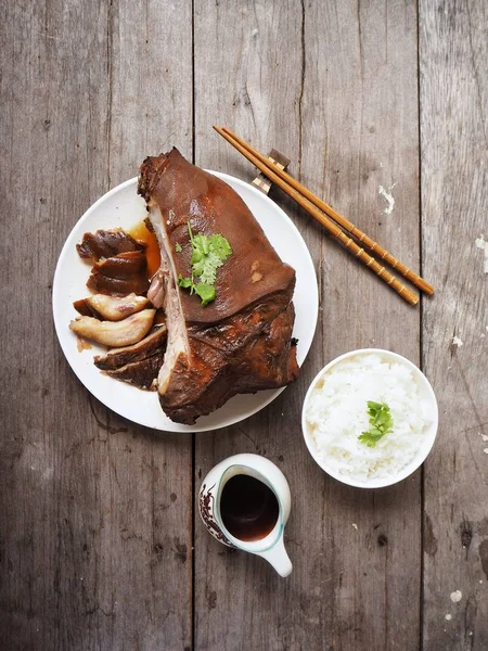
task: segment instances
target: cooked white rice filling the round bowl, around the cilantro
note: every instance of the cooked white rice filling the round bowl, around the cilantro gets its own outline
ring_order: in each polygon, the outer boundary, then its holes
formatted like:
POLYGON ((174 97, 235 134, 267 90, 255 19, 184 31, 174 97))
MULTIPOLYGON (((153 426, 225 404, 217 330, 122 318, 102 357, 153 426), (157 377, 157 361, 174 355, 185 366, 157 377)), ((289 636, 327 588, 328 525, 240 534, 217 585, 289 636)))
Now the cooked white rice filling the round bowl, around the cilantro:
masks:
POLYGON ((415 456, 431 423, 411 371, 374 353, 332 367, 312 390, 306 417, 325 468, 361 482, 396 476, 415 456), (374 447, 358 441, 371 426, 369 400, 385 403, 394 421, 393 431, 374 447))

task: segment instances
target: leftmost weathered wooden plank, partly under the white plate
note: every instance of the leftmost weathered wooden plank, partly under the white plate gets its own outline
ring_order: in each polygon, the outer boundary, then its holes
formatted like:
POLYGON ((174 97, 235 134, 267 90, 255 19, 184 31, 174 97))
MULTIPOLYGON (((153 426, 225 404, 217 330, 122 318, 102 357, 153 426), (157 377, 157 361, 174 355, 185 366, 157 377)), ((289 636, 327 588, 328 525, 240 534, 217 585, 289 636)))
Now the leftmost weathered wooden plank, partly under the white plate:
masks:
POLYGON ((4 2, 2 16, 0 646, 189 648, 191 439, 90 398, 50 289, 98 196, 150 152, 191 151, 191 2, 4 2))

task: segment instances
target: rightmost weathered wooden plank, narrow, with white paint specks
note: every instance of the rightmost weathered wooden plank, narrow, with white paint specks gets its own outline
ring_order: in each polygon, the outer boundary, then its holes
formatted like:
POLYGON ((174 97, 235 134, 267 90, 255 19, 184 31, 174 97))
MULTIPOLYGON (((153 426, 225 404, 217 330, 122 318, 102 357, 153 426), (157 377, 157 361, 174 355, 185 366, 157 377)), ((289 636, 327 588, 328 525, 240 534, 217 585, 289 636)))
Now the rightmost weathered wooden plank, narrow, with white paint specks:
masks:
POLYGON ((439 436, 425 467, 424 648, 488 648, 486 2, 421 2, 423 358, 439 436), (452 345, 459 336, 463 346, 452 345), (485 441, 483 439, 485 436, 485 441), (450 595, 461 590, 453 603, 450 595), (450 615, 451 620, 446 620, 450 615))

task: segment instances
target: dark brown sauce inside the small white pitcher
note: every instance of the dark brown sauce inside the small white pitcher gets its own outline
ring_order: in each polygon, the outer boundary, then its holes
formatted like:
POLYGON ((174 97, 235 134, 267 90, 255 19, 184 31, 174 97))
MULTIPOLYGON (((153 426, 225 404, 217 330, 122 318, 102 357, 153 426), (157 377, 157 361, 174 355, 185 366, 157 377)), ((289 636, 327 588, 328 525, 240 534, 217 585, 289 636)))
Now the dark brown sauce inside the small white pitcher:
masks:
POLYGON ((248 475, 234 475, 223 486, 220 515, 227 531, 239 540, 260 540, 277 524, 280 508, 274 493, 248 475))

